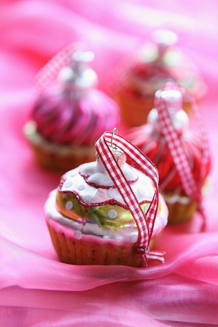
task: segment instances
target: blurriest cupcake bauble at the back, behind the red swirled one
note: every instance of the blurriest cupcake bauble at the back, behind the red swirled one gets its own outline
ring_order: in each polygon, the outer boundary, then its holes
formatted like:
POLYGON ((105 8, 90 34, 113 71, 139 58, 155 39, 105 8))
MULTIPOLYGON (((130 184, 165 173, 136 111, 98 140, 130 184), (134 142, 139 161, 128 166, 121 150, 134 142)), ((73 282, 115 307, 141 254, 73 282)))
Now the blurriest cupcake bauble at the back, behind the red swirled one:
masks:
MULTIPOLYGON (((169 78, 191 91, 197 100, 205 94, 206 85, 198 68, 174 46, 176 40, 172 31, 155 31, 155 43, 143 46, 126 72, 121 73, 114 93, 122 119, 129 126, 146 123, 148 113, 154 108, 155 92, 169 78)), ((187 98, 183 98, 183 109, 190 110, 187 98)))

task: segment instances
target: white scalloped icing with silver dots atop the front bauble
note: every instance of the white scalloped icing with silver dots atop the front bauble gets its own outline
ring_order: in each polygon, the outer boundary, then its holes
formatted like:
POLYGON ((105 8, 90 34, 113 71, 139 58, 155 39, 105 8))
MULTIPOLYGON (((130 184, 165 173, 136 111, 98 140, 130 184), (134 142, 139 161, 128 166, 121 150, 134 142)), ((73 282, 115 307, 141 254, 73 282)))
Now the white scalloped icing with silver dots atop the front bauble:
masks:
MULTIPOLYGON (((134 167, 131 167, 127 163, 125 163, 122 167, 122 170, 127 177, 128 180, 136 180, 135 182, 131 183, 130 186, 133 190, 133 192, 136 195, 137 200, 142 202, 143 200, 152 200, 154 196, 154 190, 155 186, 153 181, 146 175, 144 175, 142 172, 137 170, 134 167), (138 179, 137 179, 138 178, 138 179), (140 189, 141 192, 139 193, 137 190, 140 189), (142 192, 144 190, 144 193, 142 192)), ((78 196, 81 198, 81 200, 84 203, 99 203, 99 202, 105 202, 108 200, 111 200, 112 198, 115 199, 117 202, 125 204, 121 195, 119 194, 117 188, 95 188, 92 185, 89 185, 85 183, 84 178, 81 176, 81 174, 89 174, 89 181, 95 181, 96 183, 96 174, 97 174, 97 164, 96 162, 92 163, 84 163, 80 166, 80 169, 76 168, 74 170, 68 171, 64 176, 66 178, 66 181, 64 182, 63 186, 61 187, 61 191, 75 191, 78 196), (95 178, 93 178, 95 176, 95 178), (66 182, 72 182, 71 188, 66 188, 65 183, 66 182), (85 188, 83 190, 80 190, 80 186, 85 185, 85 188)), ((114 186, 113 181, 111 180, 108 173, 102 172, 100 173, 101 177, 104 179, 104 182, 107 182, 107 185, 114 186)), ((100 185, 102 185, 101 183, 100 185)), ((105 185, 105 184, 104 184, 105 185)))

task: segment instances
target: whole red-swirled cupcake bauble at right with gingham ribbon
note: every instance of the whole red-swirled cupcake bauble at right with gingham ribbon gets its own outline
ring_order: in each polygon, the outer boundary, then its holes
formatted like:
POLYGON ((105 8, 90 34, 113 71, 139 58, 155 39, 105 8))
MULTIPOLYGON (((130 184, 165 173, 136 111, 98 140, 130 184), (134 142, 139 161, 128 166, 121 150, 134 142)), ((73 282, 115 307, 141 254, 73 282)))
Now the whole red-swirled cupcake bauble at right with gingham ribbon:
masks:
POLYGON ((172 83, 165 89, 156 92, 155 108, 147 124, 130 130, 127 138, 156 165, 159 190, 169 209, 168 222, 177 223, 190 219, 197 210, 203 214, 202 191, 210 156, 206 129, 196 105, 193 103, 193 113, 200 126, 199 135, 190 129, 189 117, 182 109, 182 89, 172 83))

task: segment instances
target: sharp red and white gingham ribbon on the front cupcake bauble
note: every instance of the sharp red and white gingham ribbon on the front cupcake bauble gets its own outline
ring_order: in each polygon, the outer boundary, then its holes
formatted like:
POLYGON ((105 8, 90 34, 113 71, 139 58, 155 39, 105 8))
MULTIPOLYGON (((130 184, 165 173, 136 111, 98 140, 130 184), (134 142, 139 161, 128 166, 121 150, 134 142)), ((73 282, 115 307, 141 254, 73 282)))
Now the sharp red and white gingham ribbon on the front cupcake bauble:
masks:
POLYGON ((163 254, 165 252, 149 252, 149 243, 154 228, 154 221, 156 218, 159 201, 159 176, 157 168, 136 146, 131 144, 128 140, 121 137, 120 135, 113 135, 113 144, 120 148, 127 155, 127 157, 131 158, 134 163, 140 165, 141 170, 154 181, 156 187, 154 197, 147 213, 144 214, 129 182, 123 174, 120 166, 114 158, 110 146, 108 145, 108 143, 111 141, 111 137, 112 132, 105 132, 96 142, 95 147, 105 169, 107 170, 109 176, 111 177, 121 197, 123 198, 123 201, 125 202, 127 208, 136 221, 136 226, 138 228, 138 248, 136 253, 142 257, 145 267, 150 266, 148 262, 149 258, 164 262, 163 254))

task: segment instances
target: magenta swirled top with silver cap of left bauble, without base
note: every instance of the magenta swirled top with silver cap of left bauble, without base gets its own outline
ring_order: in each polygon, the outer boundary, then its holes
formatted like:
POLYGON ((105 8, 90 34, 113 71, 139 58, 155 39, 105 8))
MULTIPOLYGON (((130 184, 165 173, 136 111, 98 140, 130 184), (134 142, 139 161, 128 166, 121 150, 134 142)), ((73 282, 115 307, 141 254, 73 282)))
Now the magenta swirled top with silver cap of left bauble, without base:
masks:
POLYGON ((59 71, 57 84, 39 95, 32 119, 47 141, 89 146, 118 124, 118 106, 96 89, 98 77, 89 67, 93 58, 91 51, 75 48, 69 65, 59 71))

